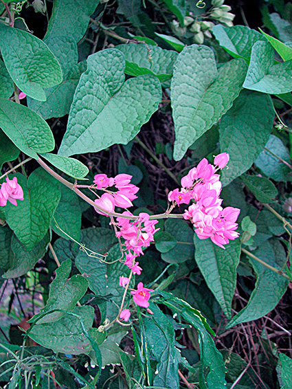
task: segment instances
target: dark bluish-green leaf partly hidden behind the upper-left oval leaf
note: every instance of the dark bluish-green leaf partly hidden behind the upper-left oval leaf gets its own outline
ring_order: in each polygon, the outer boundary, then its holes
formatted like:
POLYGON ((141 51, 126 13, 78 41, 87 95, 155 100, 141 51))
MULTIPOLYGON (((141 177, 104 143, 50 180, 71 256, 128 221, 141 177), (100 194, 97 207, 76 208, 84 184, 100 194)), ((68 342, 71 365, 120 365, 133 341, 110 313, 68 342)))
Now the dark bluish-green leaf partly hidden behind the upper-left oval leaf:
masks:
POLYGON ((40 102, 27 98, 27 105, 44 119, 60 118, 70 111, 80 75, 86 70, 86 62, 78 64, 78 51, 71 36, 55 36, 46 41, 63 70, 63 82, 45 89, 47 100, 40 102))

